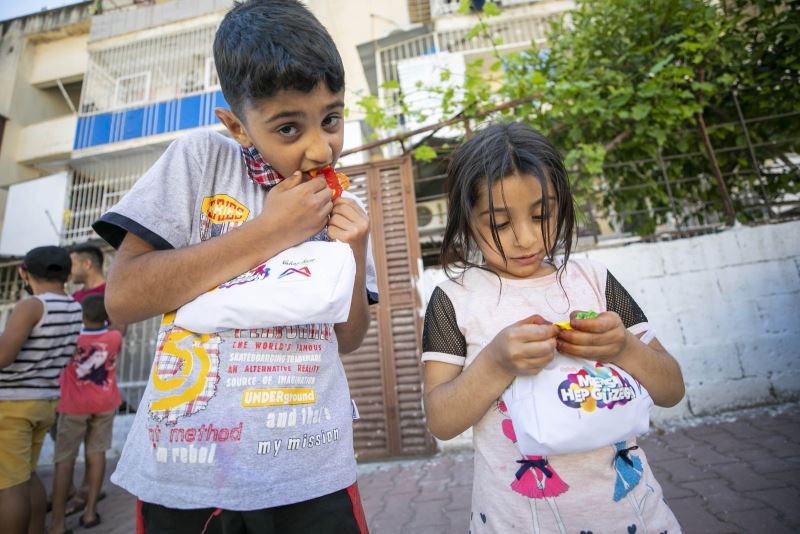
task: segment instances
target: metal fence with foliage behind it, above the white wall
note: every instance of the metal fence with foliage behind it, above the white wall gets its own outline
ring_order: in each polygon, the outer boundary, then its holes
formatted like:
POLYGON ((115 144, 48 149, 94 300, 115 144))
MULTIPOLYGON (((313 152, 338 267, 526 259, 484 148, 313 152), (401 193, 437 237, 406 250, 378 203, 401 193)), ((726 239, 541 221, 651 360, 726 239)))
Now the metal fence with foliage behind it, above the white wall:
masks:
MULTIPOLYGON (((800 111, 779 104, 774 113, 748 117, 733 94, 727 104, 732 120, 710 124, 708 131, 736 217, 749 224, 800 218, 800 126, 785 128, 800 124, 800 111), (771 131, 782 133, 764 135, 771 131)), ((696 130, 679 135, 698 138, 696 130)), ((415 166, 418 210, 444 199, 450 150, 437 147, 438 161, 415 166)), ((579 183, 573 192, 580 249, 689 237, 728 224, 708 156, 700 149, 609 162, 600 176, 588 185, 579 183), (623 196, 634 200, 620 209, 616 201, 623 196)), ((422 214, 418 218, 425 220, 422 214)), ((421 232, 426 267, 438 264, 441 237, 441 229, 421 232)))

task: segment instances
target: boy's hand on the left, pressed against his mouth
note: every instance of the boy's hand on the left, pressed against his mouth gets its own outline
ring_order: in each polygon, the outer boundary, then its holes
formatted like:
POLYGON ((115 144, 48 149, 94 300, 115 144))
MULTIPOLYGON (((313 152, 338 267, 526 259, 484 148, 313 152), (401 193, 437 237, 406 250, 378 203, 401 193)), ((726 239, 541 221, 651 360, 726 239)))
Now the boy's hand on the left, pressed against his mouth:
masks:
POLYGON ((311 178, 303 182, 303 174, 295 172, 273 187, 256 218, 278 221, 282 233, 296 245, 319 232, 328 222, 333 203, 325 179, 311 178))

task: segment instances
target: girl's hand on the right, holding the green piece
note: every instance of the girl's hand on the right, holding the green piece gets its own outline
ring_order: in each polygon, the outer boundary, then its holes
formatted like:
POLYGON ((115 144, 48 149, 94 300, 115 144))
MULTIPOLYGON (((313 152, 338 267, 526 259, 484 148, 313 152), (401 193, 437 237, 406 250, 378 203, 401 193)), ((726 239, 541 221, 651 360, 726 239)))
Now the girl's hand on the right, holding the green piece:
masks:
POLYGON ((577 319, 577 311, 570 314, 572 330, 558 334, 558 350, 598 362, 613 362, 628 342, 628 330, 614 312, 603 312, 595 319, 577 319))

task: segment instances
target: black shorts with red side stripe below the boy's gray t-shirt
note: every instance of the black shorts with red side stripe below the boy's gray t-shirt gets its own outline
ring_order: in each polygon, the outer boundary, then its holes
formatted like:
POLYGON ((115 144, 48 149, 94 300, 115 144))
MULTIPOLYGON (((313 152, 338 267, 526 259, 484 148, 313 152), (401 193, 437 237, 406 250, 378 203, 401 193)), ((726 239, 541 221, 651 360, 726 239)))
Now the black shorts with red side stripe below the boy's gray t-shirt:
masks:
POLYGON ((140 534, 368 534, 358 484, 295 504, 248 512, 141 503, 140 534))

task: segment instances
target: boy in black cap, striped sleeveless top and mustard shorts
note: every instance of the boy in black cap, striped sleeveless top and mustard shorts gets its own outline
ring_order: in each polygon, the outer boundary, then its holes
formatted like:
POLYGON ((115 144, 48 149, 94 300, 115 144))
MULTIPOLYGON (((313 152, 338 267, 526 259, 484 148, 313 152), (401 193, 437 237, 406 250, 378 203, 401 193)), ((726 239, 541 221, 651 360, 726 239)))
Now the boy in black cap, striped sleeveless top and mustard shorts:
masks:
POLYGON ((0 517, 12 534, 44 532, 36 462, 81 330, 81 306, 64 291, 71 268, 61 247, 30 250, 19 275, 33 298, 17 303, 0 335, 0 517))

